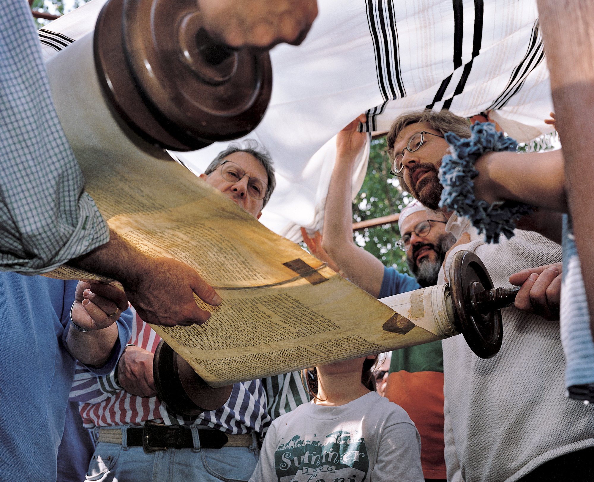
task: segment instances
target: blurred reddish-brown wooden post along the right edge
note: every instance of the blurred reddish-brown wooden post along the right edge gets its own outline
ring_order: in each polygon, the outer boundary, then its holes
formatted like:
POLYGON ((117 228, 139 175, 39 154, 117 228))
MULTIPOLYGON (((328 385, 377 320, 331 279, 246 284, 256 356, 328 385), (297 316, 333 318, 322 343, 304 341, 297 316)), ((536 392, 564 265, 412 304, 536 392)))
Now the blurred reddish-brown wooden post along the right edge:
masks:
POLYGON ((567 198, 594 332, 594 4, 538 0, 557 130, 564 146, 567 198))

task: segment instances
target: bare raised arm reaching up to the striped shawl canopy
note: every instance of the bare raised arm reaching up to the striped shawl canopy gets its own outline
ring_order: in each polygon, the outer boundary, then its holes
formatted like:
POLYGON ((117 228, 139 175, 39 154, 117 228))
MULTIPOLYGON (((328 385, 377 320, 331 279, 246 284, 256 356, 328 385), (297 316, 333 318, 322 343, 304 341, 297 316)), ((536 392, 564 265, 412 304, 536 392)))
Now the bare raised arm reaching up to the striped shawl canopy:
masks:
POLYGON ((352 171, 367 136, 357 132, 358 124, 359 119, 355 119, 336 138, 336 163, 326 197, 322 246, 350 281, 377 298, 384 265, 353 241, 352 171))

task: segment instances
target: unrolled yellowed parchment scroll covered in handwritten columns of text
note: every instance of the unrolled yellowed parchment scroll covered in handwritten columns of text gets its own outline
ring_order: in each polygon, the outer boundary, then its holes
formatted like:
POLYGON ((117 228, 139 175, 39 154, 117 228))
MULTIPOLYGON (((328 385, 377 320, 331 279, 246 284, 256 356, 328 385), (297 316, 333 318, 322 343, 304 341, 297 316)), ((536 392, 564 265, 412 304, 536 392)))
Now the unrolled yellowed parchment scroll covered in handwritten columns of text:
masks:
MULTIPOLYGON (((110 113, 88 78, 93 68, 72 67, 85 61, 84 48, 81 39, 48 64, 60 121, 110 228, 149 256, 194 267, 223 298, 217 308, 203 304, 213 313, 204 325, 153 326, 208 383, 228 385, 454 334, 438 320, 447 310, 431 305, 443 298, 444 286, 389 298, 398 314, 184 166, 135 155, 117 122, 100 121, 110 113), (83 59, 73 62, 69 51, 83 59), (72 102, 82 96, 72 92, 77 86, 92 113, 81 114, 72 102)), ((91 276, 65 267, 50 275, 91 276)))

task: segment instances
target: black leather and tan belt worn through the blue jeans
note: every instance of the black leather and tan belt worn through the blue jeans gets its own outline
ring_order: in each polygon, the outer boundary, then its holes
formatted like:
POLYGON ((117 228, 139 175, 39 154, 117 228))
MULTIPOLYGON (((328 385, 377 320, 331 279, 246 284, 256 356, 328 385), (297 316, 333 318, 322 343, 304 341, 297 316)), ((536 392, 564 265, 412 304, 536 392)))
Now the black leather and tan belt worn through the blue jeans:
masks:
MULTIPOLYGON (((220 449, 223 446, 249 447, 251 434, 228 435, 221 430, 198 430, 201 449, 220 449)), ((100 429, 99 442, 122 443, 121 430, 100 429)), ((126 430, 126 445, 142 447, 144 452, 167 449, 191 449, 194 447, 192 430, 188 426, 166 426, 149 420, 144 427, 129 427, 126 430)))

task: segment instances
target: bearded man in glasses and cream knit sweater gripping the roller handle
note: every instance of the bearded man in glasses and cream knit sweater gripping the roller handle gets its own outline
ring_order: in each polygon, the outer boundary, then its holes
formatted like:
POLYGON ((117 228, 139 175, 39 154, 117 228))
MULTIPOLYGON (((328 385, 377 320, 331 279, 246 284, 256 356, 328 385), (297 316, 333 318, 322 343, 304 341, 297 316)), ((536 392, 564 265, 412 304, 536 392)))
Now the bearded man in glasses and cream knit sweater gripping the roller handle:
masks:
MULTIPOLYGON (((443 138, 448 131, 470 137, 466 119, 429 110, 400 116, 387 135, 394 174, 433 209, 443 190, 437 172, 448 150, 443 138)), ((541 231, 539 219, 546 216, 531 216, 533 229, 541 231)), ((516 307, 525 310, 502 310, 503 344, 488 360, 476 357, 460 336, 442 341, 448 480, 593 480, 594 412, 563 396, 564 355, 555 321, 559 290, 549 289, 560 285, 561 247, 550 239, 556 237, 516 229, 510 240, 486 244, 456 215, 445 229, 459 239, 469 236, 470 242, 451 250, 444 273, 457 250, 472 251, 495 286, 523 282, 516 307), (519 280, 517 272, 526 268, 535 272, 519 280)))

